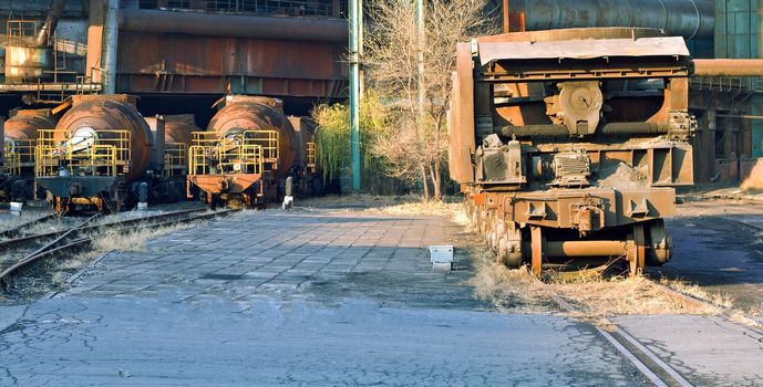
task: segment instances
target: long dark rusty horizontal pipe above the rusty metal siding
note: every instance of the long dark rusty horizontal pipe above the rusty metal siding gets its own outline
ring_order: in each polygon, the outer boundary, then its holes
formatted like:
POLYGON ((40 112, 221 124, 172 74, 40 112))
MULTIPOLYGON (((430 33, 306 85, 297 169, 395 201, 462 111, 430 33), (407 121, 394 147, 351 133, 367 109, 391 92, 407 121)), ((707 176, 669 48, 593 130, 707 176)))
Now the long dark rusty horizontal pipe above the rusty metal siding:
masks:
POLYGON ((347 20, 312 18, 251 17, 140 9, 120 10, 120 28, 125 31, 186 33, 227 38, 307 40, 344 43, 347 20))

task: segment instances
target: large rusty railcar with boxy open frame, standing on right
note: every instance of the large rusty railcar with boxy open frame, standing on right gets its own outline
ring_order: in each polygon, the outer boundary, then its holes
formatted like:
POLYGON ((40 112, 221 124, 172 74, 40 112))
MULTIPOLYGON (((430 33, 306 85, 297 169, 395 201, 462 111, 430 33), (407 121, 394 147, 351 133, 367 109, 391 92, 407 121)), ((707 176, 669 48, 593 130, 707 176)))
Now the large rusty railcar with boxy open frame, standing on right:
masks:
POLYGON ((512 268, 666 263, 663 218, 693 184, 691 59, 643 29, 507 33, 458 43, 450 172, 512 268))

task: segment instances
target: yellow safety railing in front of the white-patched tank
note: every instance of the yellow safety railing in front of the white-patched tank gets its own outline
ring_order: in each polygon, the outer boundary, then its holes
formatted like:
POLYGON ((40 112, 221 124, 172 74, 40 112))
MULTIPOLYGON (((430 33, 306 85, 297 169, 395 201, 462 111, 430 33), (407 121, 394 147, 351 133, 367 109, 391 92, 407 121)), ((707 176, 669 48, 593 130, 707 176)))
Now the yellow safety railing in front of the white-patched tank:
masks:
POLYGON ((55 138, 55 130, 38 130, 34 148, 37 176, 56 176, 65 168, 78 176, 117 176, 130 171, 130 132, 99 130, 90 144, 55 138))

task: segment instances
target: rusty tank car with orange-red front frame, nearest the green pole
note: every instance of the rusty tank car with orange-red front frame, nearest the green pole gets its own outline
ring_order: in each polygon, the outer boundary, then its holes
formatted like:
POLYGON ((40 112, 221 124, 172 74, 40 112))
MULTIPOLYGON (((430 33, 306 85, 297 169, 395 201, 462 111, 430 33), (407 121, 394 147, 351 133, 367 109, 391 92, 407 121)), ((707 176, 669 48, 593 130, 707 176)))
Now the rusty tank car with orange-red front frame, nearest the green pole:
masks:
POLYGON ((283 196, 287 177, 299 186, 316 174, 309 123, 287 118, 280 100, 228 95, 216 105, 207 132, 193 134, 188 195, 198 189, 212 207, 252 207, 283 196))

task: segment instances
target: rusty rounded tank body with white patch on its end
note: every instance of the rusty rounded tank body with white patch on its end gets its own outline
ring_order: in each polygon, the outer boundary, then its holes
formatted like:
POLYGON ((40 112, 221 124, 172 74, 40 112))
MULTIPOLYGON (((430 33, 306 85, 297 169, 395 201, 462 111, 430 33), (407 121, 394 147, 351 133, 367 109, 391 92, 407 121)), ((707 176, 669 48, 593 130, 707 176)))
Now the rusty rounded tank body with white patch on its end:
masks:
POLYGON ((131 182, 148 169, 154 145, 151 128, 135 107, 136 101, 126 94, 72 96, 72 107, 59 121, 53 137, 58 142, 87 142, 114 136, 104 130, 130 132, 131 164, 125 180, 131 182))

